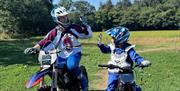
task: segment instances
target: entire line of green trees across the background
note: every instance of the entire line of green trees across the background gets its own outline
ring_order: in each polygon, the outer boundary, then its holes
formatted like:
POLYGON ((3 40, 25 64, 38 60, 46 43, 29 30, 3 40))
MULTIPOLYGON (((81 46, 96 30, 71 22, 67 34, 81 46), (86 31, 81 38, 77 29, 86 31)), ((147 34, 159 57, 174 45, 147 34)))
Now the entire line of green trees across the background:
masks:
MULTIPOLYGON (((79 23, 79 16, 86 16, 93 31, 114 26, 130 30, 174 30, 180 28, 180 0, 111 0, 100 3, 95 9, 87 1, 61 0, 70 13, 72 23, 79 23), (75 9, 74 9, 75 7, 75 9)), ((56 24, 47 0, 0 0, 0 32, 42 35, 56 24)))

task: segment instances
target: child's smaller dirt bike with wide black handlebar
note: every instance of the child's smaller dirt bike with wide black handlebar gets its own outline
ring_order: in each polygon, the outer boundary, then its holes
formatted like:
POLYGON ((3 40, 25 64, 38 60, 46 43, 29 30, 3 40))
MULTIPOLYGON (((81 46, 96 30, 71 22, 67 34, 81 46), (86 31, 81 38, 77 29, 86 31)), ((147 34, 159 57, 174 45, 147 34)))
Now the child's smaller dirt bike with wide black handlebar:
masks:
POLYGON ((135 65, 133 68, 122 68, 113 64, 98 65, 98 67, 106 67, 109 69, 119 69, 119 78, 115 88, 115 91, 142 91, 141 88, 136 85, 134 78, 134 69, 136 67, 144 68, 142 65, 135 65))

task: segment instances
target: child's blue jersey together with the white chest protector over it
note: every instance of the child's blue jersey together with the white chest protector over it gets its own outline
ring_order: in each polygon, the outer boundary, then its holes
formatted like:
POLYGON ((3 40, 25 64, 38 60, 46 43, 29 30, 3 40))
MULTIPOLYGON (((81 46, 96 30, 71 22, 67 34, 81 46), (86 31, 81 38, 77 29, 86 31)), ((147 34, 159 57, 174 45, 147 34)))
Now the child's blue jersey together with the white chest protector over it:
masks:
MULTIPOLYGON (((128 43, 123 44, 121 48, 115 47, 114 44, 105 46, 98 44, 103 53, 111 53, 111 59, 108 64, 118 65, 120 67, 131 67, 133 62, 140 64, 144 59, 140 57, 133 49, 135 46, 128 43)), ((109 69, 110 72, 119 72, 118 69, 109 69)))

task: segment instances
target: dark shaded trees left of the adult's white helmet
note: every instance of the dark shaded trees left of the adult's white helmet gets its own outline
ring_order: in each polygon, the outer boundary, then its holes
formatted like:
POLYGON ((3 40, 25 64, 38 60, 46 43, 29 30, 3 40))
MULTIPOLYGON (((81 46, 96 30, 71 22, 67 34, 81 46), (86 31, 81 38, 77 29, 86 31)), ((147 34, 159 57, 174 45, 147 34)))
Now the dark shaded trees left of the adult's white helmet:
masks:
POLYGON ((0 27, 8 33, 42 34, 52 22, 49 9, 41 0, 2 0, 0 27))

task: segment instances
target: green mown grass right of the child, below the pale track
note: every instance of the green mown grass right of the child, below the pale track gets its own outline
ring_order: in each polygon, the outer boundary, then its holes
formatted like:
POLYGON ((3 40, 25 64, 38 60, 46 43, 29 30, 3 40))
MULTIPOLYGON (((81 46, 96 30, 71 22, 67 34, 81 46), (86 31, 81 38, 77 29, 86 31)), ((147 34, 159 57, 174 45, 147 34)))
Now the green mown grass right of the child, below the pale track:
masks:
MULTIPOLYGON (((152 66, 145 69, 142 87, 144 91, 179 91, 180 82, 180 50, 156 51, 141 55, 152 62, 152 66), (148 74, 151 74, 148 76, 148 74)), ((139 80, 139 79, 138 79, 139 80)), ((141 81, 138 81, 141 83, 141 81)))

